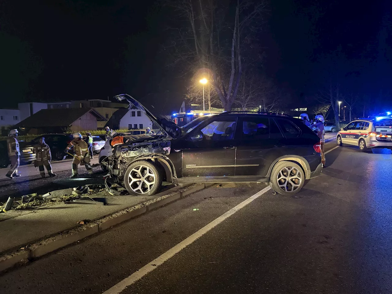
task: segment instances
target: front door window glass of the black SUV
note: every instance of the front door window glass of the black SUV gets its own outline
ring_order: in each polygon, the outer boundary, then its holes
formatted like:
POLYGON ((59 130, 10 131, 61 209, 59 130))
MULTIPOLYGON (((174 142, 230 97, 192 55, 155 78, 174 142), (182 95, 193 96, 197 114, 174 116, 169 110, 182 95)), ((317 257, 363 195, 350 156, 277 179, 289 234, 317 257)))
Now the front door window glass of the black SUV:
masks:
POLYGON ((206 140, 232 140, 236 131, 236 121, 214 121, 201 129, 206 140))

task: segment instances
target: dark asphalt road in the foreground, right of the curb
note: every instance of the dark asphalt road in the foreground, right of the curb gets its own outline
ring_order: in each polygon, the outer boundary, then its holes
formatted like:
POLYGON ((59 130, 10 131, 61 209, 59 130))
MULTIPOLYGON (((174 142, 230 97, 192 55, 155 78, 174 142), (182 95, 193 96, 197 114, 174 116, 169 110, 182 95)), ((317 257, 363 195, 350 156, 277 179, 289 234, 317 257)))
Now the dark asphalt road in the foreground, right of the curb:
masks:
POLYGON ((390 294, 392 156, 335 147, 296 196, 214 185, 10 270, 0 292, 390 294))

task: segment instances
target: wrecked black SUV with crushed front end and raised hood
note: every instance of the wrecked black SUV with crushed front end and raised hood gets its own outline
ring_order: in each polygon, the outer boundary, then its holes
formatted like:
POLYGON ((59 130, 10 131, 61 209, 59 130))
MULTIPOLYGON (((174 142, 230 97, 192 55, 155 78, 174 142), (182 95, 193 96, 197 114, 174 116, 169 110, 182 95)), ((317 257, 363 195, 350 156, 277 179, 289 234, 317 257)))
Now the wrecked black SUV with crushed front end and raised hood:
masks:
POLYGON ((279 194, 291 195, 323 169, 318 136, 291 116, 225 112, 201 116, 180 128, 157 119, 127 94, 115 97, 145 112, 162 134, 115 147, 103 162, 111 178, 107 187, 115 182, 130 194, 152 195, 163 180, 264 182, 279 194))

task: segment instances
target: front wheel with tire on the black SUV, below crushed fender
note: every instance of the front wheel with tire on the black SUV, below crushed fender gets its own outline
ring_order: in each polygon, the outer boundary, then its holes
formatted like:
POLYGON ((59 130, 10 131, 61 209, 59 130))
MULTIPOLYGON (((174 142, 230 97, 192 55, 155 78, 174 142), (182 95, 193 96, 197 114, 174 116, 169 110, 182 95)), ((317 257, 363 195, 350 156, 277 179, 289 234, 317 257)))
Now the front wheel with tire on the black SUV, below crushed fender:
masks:
POLYGON ((125 171, 124 185, 131 195, 149 196, 161 189, 162 178, 162 172, 156 163, 139 160, 129 165, 125 171), (138 179, 143 180, 138 181, 138 179))

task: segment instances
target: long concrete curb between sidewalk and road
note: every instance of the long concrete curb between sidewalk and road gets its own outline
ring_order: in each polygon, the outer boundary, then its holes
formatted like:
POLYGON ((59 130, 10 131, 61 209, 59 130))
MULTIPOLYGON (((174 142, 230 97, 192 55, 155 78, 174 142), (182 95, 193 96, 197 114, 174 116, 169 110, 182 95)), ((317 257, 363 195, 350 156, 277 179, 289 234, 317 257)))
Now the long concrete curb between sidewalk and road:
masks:
POLYGON ((113 214, 109 214, 108 216, 104 216, 103 218, 99 218, 98 220, 85 225, 80 225, 79 227, 58 232, 54 236, 44 238, 40 241, 22 247, 21 249, 7 252, 0 256, 0 272, 3 272, 16 264, 27 263, 28 261, 78 242, 86 237, 98 234, 99 232, 109 229, 114 225, 136 218, 147 211, 152 211, 153 209, 162 207, 163 205, 176 201, 180 198, 184 198, 189 194, 200 191, 211 185, 214 185, 214 183, 192 184, 169 194, 158 196, 149 201, 114 212, 113 214))

